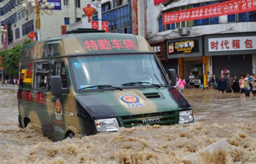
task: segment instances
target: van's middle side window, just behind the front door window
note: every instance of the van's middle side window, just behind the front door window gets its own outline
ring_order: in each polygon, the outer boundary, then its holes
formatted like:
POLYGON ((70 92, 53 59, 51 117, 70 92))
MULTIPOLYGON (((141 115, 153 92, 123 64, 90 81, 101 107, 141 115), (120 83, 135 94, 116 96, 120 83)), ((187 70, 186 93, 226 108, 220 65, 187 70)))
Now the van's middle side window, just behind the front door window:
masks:
POLYGON ((34 88, 48 90, 48 88, 49 88, 49 63, 38 62, 35 64, 34 88))

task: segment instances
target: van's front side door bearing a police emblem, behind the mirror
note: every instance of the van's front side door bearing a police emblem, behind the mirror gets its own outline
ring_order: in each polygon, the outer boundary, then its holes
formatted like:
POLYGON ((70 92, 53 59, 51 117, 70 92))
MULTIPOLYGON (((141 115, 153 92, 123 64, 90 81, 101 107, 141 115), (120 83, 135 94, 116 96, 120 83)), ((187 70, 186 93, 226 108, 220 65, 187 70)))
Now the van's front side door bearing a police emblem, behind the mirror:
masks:
MULTIPOLYGON (((53 63, 53 71, 52 76, 61 76, 62 80, 62 88, 68 91, 68 80, 67 80, 67 67, 65 65, 64 59, 59 60, 52 60, 53 63)), ((65 132, 67 127, 67 111, 66 109, 69 109, 70 104, 69 101, 67 101, 68 98, 68 92, 62 93, 61 96, 55 96, 52 99, 53 108, 51 109, 52 115, 52 126, 54 129, 53 135, 54 139, 64 139, 65 138, 65 132)))

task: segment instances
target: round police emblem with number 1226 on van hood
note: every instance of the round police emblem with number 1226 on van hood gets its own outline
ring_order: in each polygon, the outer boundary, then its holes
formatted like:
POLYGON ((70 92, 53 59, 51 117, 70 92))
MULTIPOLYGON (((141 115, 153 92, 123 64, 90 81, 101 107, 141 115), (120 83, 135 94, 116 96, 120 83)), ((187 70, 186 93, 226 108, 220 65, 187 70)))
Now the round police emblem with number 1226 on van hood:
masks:
POLYGON ((140 99, 137 96, 132 95, 125 95, 120 98, 120 103, 128 108, 135 108, 135 107, 143 107, 144 102, 143 99, 140 99))

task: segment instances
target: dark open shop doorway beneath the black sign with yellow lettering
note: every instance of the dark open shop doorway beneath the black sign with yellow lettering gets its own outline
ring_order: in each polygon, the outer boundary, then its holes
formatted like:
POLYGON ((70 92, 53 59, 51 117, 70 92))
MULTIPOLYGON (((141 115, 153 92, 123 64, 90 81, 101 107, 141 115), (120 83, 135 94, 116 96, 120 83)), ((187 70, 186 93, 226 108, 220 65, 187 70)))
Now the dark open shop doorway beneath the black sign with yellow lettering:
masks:
POLYGON ((184 58, 184 78, 189 79, 189 73, 192 71, 195 76, 195 87, 200 87, 203 83, 203 60, 202 58, 184 58))

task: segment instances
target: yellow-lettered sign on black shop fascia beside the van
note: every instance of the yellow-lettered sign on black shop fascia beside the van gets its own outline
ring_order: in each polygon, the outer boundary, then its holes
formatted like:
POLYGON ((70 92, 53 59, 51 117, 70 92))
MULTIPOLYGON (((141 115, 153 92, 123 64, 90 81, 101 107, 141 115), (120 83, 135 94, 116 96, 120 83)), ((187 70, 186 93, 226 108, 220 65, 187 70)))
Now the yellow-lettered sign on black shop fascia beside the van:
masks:
POLYGON ((195 42, 198 42, 198 40, 170 42, 168 44, 168 54, 189 54, 198 52, 198 48, 195 49, 195 42))

